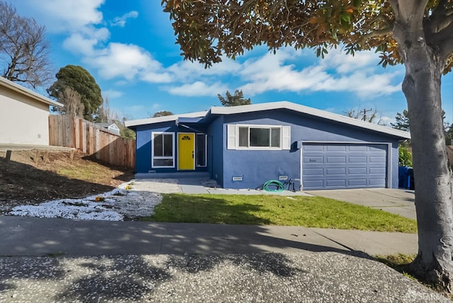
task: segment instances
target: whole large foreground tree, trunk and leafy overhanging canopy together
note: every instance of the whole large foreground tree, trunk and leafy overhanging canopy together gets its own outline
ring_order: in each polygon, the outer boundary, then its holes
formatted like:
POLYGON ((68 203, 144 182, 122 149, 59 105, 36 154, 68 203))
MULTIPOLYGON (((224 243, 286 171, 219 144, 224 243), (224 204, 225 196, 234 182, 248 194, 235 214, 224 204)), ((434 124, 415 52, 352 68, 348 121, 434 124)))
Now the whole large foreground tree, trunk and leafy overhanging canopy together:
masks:
POLYGON ((447 164, 440 84, 453 66, 452 0, 162 0, 185 59, 207 67, 256 45, 269 50, 377 50, 403 63, 411 117, 418 256, 413 275, 453 292, 452 171, 447 164))

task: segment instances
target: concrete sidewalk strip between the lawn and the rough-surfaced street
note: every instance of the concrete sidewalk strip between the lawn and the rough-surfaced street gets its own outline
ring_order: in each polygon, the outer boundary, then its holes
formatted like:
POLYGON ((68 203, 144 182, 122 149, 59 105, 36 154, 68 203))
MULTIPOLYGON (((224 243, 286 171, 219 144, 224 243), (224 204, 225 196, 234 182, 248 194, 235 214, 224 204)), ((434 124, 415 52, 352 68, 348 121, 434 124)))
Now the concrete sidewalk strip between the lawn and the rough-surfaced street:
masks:
POLYGON ((416 253, 417 235, 306 227, 0 217, 0 256, 416 253))

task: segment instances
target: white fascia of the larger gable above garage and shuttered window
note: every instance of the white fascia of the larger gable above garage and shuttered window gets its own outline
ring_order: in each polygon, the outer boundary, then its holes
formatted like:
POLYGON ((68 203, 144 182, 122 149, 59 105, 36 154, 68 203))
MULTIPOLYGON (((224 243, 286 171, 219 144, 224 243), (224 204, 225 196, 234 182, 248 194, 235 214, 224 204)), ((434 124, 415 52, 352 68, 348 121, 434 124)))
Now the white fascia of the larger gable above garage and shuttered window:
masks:
POLYGON ((402 130, 395 130, 394 128, 385 127, 382 125, 377 125, 362 120, 357 120, 354 118, 346 117, 344 115, 338 115, 336 113, 330 113, 325 110, 318 110, 316 108, 309 108, 304 105, 299 105, 296 103, 291 103, 288 101, 280 102, 270 102, 270 103, 260 103, 260 104, 251 104, 251 105, 240 105, 240 106, 213 106, 211 108, 212 115, 231 115, 237 113, 252 113, 262 110, 275 110, 275 109, 287 109, 294 110, 299 113, 304 113, 306 115, 313 115, 319 118, 332 120, 340 123, 345 123, 348 125, 353 125, 357 127, 362 127, 367 130, 374 130, 375 132, 382 132, 387 135, 392 135, 396 137, 401 137, 404 139, 411 139, 411 134, 409 132, 403 132, 402 130))

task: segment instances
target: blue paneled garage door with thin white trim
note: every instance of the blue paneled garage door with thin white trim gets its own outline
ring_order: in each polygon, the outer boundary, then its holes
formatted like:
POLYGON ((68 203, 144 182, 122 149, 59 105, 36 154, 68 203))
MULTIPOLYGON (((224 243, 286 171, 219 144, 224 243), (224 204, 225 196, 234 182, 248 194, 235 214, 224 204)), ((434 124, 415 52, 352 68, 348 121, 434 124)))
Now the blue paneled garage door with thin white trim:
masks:
POLYGON ((304 190, 384 188, 386 144, 302 144, 304 190))

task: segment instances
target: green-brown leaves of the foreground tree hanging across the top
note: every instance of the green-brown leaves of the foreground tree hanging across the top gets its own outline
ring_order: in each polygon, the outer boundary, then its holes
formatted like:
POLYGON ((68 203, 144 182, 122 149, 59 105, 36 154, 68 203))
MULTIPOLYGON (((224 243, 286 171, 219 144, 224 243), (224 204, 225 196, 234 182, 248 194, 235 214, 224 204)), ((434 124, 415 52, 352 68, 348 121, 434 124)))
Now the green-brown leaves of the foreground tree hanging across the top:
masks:
POLYGON ((394 27, 396 17, 423 19, 426 43, 440 45, 440 57, 447 60, 445 72, 453 66, 449 0, 163 0, 162 4, 173 19, 185 59, 207 66, 222 61, 223 54, 234 58, 262 44, 269 50, 314 47, 321 57, 338 45, 352 55, 375 49, 384 67, 394 65, 403 59, 394 38, 394 30, 403 30, 394 27))

